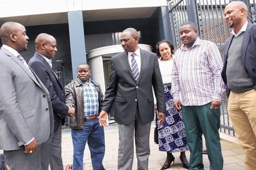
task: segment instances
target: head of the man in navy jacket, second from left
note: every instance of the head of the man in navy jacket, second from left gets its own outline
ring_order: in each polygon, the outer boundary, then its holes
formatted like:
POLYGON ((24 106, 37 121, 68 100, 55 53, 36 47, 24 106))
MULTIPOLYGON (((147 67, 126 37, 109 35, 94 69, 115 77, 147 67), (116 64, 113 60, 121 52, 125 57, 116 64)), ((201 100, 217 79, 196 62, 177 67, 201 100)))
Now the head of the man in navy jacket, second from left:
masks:
POLYGON ((52 59, 57 52, 57 42, 52 35, 41 33, 35 39, 35 51, 52 59))

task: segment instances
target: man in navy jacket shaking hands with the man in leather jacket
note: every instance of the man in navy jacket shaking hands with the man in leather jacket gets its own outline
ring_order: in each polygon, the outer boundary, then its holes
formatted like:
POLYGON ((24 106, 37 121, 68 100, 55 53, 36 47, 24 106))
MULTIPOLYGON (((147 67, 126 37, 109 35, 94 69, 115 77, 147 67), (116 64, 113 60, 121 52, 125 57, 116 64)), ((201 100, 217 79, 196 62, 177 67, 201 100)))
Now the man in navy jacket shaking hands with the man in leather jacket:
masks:
POLYGON ((29 60, 29 66, 44 83, 51 96, 54 115, 54 134, 42 146, 45 152, 41 152, 41 169, 63 170, 61 159, 61 120, 66 115, 73 116, 75 109, 65 104, 64 87, 52 69, 51 59, 57 52, 57 43, 49 34, 39 34, 35 39, 36 52, 29 60))

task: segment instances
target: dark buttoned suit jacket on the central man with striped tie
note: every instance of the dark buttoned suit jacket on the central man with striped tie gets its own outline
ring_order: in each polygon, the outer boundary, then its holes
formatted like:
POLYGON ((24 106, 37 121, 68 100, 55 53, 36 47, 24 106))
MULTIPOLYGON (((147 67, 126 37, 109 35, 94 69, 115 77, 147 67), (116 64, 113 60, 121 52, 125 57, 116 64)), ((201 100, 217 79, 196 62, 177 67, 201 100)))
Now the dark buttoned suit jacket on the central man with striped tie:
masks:
POLYGON ((115 121, 130 125, 136 114, 137 103, 141 122, 149 123, 154 119, 154 97, 159 112, 166 111, 163 81, 154 53, 140 49, 141 69, 138 83, 135 82, 128 61, 127 52, 119 53, 111 59, 111 75, 105 93, 102 110, 110 112, 115 102, 115 121))

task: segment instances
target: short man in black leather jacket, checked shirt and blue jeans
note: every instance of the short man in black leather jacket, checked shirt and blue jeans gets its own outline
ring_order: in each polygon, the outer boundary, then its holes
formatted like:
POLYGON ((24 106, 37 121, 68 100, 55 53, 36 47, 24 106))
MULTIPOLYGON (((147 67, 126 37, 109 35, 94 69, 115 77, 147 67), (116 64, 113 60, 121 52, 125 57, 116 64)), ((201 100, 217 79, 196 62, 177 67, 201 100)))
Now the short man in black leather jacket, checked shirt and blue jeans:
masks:
POLYGON ((70 117, 73 140, 73 169, 83 169, 84 148, 86 142, 94 170, 105 170, 102 160, 105 154, 104 128, 99 125, 99 111, 104 96, 99 83, 90 78, 90 67, 81 63, 77 67, 77 79, 65 86, 66 104, 76 109, 70 117))

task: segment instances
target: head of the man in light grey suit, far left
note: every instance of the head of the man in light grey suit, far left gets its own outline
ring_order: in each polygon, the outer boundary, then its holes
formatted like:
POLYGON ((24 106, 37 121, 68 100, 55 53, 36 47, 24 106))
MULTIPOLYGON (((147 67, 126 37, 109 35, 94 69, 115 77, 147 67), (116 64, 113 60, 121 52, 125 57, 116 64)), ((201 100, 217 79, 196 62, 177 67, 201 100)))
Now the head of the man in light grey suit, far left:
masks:
POLYGON ((14 48, 19 53, 27 50, 29 37, 26 35, 26 28, 20 23, 3 23, 0 27, 0 39, 4 45, 14 48))

